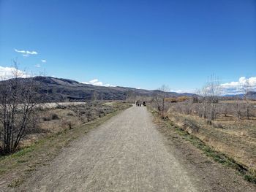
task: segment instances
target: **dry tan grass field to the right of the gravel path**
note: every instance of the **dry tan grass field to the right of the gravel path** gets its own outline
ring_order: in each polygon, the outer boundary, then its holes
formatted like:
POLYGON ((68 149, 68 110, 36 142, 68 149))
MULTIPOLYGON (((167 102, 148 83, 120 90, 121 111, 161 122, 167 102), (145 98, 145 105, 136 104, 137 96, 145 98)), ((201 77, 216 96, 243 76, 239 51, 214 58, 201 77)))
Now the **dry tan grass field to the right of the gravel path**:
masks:
MULTIPOLYGON (((223 102, 223 101, 222 101, 223 102)), ((236 105, 237 101, 225 101, 236 105)), ((244 101, 239 101, 243 104, 244 101)), ((250 101, 250 118, 237 118, 234 112, 222 115, 219 112, 215 120, 200 118, 192 112, 181 112, 170 107, 167 116, 179 127, 199 138, 206 145, 225 153, 256 174, 256 101, 250 101), (186 114, 187 113, 187 114, 186 114)), ((181 104, 174 104, 176 107, 181 104)), ((195 109, 196 104, 190 107, 195 109)), ((184 104, 184 106, 187 106, 184 104)), ((181 107, 182 108, 182 107, 181 107)))

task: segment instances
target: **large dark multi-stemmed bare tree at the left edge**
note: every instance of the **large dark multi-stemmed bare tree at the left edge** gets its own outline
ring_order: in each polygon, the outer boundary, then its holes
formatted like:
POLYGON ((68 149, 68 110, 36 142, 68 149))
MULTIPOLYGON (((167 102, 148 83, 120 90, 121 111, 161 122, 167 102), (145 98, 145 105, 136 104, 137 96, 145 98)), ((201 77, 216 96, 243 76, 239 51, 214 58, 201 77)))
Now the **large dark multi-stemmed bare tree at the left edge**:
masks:
POLYGON ((37 104, 42 97, 37 94, 39 86, 33 80, 20 77, 17 62, 11 80, 0 82, 0 153, 17 150, 20 140, 37 123, 37 104))

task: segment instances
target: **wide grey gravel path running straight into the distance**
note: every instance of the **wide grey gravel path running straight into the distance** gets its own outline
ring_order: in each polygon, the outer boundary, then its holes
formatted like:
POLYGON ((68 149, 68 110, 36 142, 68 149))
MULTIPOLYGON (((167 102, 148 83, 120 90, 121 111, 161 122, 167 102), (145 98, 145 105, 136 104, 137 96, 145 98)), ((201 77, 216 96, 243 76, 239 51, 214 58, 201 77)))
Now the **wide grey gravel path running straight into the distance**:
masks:
POLYGON ((146 107, 131 107, 73 142, 15 191, 208 191, 177 154, 146 107))

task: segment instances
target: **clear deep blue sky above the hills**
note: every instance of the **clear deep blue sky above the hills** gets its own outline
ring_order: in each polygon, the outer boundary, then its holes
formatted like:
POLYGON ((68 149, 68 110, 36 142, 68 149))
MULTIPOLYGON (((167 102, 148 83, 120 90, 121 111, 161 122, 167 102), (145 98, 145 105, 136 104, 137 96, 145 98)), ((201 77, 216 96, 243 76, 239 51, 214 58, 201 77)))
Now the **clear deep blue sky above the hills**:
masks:
POLYGON ((0 0, 1 69, 13 58, 28 72, 103 85, 238 82, 256 77, 256 1, 0 0))

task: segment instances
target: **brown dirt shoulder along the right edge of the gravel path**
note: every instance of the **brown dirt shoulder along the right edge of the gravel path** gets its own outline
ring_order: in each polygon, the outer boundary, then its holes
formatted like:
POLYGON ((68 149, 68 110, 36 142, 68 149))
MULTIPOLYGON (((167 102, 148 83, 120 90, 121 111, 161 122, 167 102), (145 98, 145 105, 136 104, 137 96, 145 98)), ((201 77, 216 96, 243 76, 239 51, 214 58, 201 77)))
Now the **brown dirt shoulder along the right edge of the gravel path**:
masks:
POLYGON ((178 134, 174 126, 154 117, 158 130, 165 136, 165 145, 178 159, 197 185, 198 191, 256 191, 256 185, 243 179, 234 169, 207 157, 186 136, 178 134))

